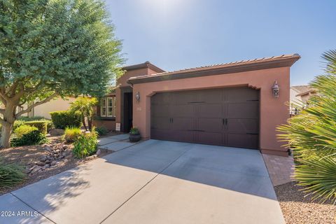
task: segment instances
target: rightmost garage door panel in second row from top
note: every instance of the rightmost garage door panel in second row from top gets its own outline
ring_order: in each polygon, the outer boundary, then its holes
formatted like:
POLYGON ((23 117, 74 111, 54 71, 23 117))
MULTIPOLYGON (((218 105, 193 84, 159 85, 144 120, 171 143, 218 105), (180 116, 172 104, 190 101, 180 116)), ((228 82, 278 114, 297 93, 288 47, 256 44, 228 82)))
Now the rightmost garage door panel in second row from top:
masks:
POLYGON ((228 104, 228 118, 258 118, 259 104, 256 102, 244 102, 228 104))

